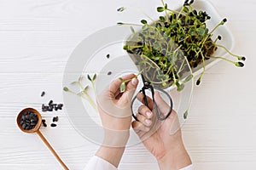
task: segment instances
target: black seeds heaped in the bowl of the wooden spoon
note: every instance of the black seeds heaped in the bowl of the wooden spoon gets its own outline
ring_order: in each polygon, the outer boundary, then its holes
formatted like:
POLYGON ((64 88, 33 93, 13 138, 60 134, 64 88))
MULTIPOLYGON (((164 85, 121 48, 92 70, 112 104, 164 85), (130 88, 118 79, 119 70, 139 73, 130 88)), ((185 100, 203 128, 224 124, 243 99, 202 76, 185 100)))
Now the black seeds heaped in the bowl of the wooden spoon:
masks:
POLYGON ((33 129, 38 123, 38 115, 32 111, 26 111, 20 116, 20 126, 25 130, 33 129))

